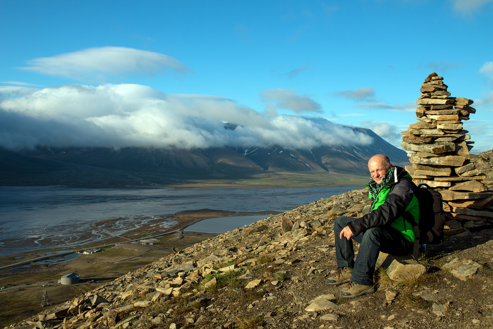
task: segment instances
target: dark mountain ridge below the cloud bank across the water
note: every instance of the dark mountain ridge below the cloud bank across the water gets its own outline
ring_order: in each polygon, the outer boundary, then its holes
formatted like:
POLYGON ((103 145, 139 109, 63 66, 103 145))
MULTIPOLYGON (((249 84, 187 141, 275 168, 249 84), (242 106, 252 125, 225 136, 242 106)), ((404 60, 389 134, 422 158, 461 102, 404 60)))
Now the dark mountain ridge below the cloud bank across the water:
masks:
MULTIPOLYGON (((289 149, 281 146, 211 147, 208 149, 124 147, 38 147, 18 152, 0 149, 0 184, 14 184, 15 179, 29 183, 26 177, 43 180, 45 173, 56 176, 65 172, 66 184, 70 178, 77 180, 77 172, 95 171, 102 185, 104 176, 113 178, 112 184, 128 184, 114 176, 125 171, 127 175, 158 175, 161 179, 150 183, 161 184, 162 179, 265 179, 276 175, 351 175, 367 177, 368 159, 384 153, 394 164, 407 164, 405 151, 390 145, 374 132, 352 128, 371 136, 373 144, 367 146, 318 146, 289 149), (81 167, 86 166, 86 167, 81 167), (164 176, 163 176, 164 175, 164 176), (266 176, 267 175, 267 176, 266 176)), ((64 174, 65 175, 65 174, 64 174)), ((53 181, 53 180, 52 180, 53 181)), ((96 179, 94 181, 97 181, 96 179)), ((53 181, 54 182, 54 181, 53 181)), ((49 182, 46 180, 46 184, 49 182)), ((93 182, 92 185, 97 185, 93 182)), ((82 183, 84 185, 86 183, 82 183)))

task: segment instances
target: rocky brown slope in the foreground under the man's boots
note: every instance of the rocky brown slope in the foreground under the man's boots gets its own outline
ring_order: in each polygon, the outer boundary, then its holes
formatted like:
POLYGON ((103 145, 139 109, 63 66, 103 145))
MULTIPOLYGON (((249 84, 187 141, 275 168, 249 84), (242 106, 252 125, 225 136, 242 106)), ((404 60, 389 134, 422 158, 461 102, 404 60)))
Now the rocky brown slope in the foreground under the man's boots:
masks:
MULTIPOLYGON (((491 169, 490 153, 474 161, 491 169)), ((349 191, 226 232, 6 328, 493 326, 491 229, 428 246, 417 279, 377 270, 376 293, 337 299, 338 287, 324 284, 336 268, 333 220, 361 216, 367 195, 349 191)))

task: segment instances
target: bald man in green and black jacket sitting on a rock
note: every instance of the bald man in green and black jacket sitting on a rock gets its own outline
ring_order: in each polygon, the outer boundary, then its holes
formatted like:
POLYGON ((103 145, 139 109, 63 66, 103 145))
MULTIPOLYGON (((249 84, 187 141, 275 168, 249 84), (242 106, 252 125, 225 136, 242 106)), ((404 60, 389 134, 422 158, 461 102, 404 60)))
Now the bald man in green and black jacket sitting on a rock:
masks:
POLYGON ((354 298, 376 292, 373 272, 379 252, 405 255, 412 251, 413 225, 403 218, 409 212, 419 221, 418 199, 412 180, 403 168, 392 166, 386 155, 377 154, 368 161, 371 180, 366 185, 372 200, 371 212, 361 218, 338 217, 334 222, 337 272, 325 280, 327 285, 348 283, 339 291, 341 298, 354 298), (354 261, 352 240, 360 243, 354 261))

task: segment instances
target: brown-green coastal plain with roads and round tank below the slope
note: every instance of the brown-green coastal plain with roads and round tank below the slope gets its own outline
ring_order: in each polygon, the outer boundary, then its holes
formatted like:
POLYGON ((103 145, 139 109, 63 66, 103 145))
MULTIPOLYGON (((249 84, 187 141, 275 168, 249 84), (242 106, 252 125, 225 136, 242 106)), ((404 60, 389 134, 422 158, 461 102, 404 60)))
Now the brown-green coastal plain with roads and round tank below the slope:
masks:
MULTIPOLYGON (((279 212, 268 211, 264 213, 277 214, 279 212)), ((48 294, 50 305, 62 303, 80 293, 91 291, 101 284, 112 281, 129 271, 154 262, 163 256, 175 254, 191 244, 217 235, 182 231, 183 228, 197 219, 259 214, 202 209, 198 211, 182 211, 173 215, 177 219, 177 224, 171 227, 168 233, 162 232, 165 235, 157 237, 156 241, 153 241, 153 245, 122 243, 127 241, 126 239, 129 239, 129 237, 135 239, 148 236, 149 227, 142 226, 138 230, 126 232, 122 235, 123 238, 112 236, 110 239, 105 240, 104 244, 100 242, 83 247, 87 250, 100 247, 103 252, 80 255, 77 259, 68 262, 55 264, 30 262, 26 265, 1 270, 0 286, 5 286, 5 288, 0 291, 0 326, 5 326, 41 312, 43 310, 41 306, 43 290, 48 294), (71 272, 80 275, 79 284, 64 286, 57 283, 62 275, 71 272)), ((108 224, 112 220, 118 219, 106 219, 95 224, 102 225, 102 222, 108 224)), ((152 225, 152 222, 149 224, 152 225)), ((19 262, 23 258, 31 259, 38 254, 49 254, 59 249, 36 250, 0 256, 0 266, 19 262), (15 257, 22 258, 16 259, 15 257)))

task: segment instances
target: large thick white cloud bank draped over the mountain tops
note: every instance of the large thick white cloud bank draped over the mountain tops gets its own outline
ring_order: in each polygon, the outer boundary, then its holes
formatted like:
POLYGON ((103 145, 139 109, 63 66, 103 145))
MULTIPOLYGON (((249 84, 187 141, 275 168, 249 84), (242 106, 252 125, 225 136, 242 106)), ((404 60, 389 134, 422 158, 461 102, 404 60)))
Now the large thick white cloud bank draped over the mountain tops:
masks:
POLYGON ((66 85, 0 100, 0 145, 9 149, 371 143, 371 137, 321 117, 271 116, 226 98, 168 95, 138 84, 66 85), (237 126, 224 129, 226 122, 237 126))

